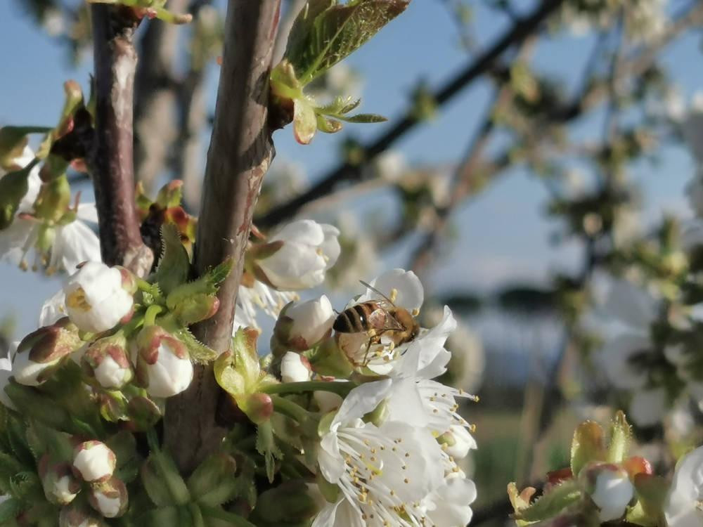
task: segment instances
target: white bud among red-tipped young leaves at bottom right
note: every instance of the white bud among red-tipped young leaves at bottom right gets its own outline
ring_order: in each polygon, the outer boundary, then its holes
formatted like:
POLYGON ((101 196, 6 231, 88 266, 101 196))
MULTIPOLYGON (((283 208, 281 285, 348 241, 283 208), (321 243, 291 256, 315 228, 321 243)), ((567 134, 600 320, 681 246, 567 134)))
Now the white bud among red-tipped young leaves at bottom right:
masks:
POLYGON ((602 463, 581 471, 593 503, 600 509, 600 521, 619 519, 634 495, 634 487, 624 469, 602 463))

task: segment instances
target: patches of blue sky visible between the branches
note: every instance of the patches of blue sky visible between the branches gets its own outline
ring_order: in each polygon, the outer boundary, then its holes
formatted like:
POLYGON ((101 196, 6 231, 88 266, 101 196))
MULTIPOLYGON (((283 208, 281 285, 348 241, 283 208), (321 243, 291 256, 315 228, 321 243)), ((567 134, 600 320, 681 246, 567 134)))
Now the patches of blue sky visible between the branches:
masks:
MULTIPOLYGON (((458 46, 458 34, 441 0, 414 0, 408 11, 383 30, 350 59, 364 76, 361 110, 379 112, 391 120, 405 108, 408 94, 418 82, 427 79, 430 86, 441 84, 467 56, 458 46)), ((530 2, 530 4, 532 4, 530 2)), ((480 33, 495 34, 507 22, 479 11, 480 33)), ((562 38, 541 46, 536 65, 562 77, 569 72, 569 84, 576 82, 581 65, 590 51, 587 38, 562 38)), ((41 34, 22 15, 15 1, 0 1, 0 60, 3 65, 0 83, 0 124, 52 124, 62 103, 61 84, 77 79, 86 86, 91 61, 78 69, 70 67, 65 50, 41 34)), ((703 87, 703 68, 697 39, 683 39, 664 54, 664 65, 690 96, 703 87)), ((209 79, 214 86, 217 68, 209 79)), ((446 164, 460 158, 484 111, 488 86, 477 84, 446 105, 432 123, 415 129, 398 148, 411 164, 446 164)), ((214 105, 214 90, 209 95, 214 105)), ((348 125, 347 134, 356 138, 373 138, 385 125, 348 125)), ((600 129, 600 127, 599 127, 600 129)), ((584 124, 583 134, 595 133, 596 127, 584 124)), ((344 136, 318 136, 312 145, 302 147, 292 141, 290 130, 278 131, 274 140, 278 158, 299 162, 309 177, 315 178, 337 160, 338 145, 344 136)), ((638 167, 633 174, 645 195, 643 221, 651 223, 662 209, 688 213, 682 189, 694 167, 681 148, 668 148, 662 164, 656 168, 638 167)), ((548 242, 557 227, 543 214, 548 195, 541 183, 526 174, 513 171, 501 177, 491 188, 454 216, 461 236, 448 258, 432 274, 435 290, 477 287, 486 289, 506 281, 538 278, 544 280, 550 269, 573 268, 579 248, 573 245, 555 248, 548 242)), ((371 203, 385 204, 383 193, 371 203)), ((385 260, 386 266, 407 263, 408 243, 395 248, 385 260)), ((43 278, 22 273, 0 264, 0 317, 17 313, 18 330, 34 329, 41 301, 58 287, 58 278, 43 278)))

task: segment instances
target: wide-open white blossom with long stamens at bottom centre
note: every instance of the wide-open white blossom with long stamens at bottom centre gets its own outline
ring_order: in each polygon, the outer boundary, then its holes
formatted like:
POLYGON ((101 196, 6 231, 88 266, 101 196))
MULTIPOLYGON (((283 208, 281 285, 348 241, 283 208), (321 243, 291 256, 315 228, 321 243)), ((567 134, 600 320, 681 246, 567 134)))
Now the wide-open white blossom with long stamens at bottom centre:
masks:
POLYGON ((380 403, 375 384, 349 393, 321 439, 320 471, 339 486, 340 501, 325 507, 314 526, 418 525, 417 505, 444 481, 443 453, 430 431, 361 420, 380 403))

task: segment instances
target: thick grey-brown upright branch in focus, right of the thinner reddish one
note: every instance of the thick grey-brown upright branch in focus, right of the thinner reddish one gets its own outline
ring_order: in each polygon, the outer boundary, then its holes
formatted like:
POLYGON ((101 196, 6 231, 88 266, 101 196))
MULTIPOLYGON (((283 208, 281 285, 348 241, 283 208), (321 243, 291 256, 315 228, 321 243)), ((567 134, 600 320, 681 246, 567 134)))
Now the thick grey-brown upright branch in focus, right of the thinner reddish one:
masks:
MULTIPOLYGON (((217 351, 226 351, 231 345, 254 205, 273 158, 266 118, 279 8, 279 0, 228 1, 195 247, 195 266, 200 273, 227 258, 235 261, 219 289, 219 311, 194 328, 196 336, 217 351)), ((212 367, 198 366, 188 390, 167 402, 165 444, 183 474, 193 471, 224 436, 224 429, 215 422, 219 394, 212 367)))

